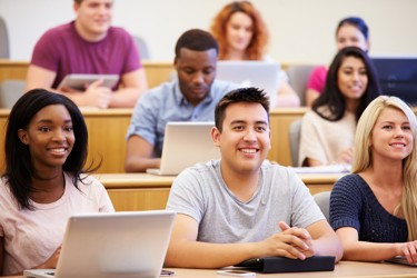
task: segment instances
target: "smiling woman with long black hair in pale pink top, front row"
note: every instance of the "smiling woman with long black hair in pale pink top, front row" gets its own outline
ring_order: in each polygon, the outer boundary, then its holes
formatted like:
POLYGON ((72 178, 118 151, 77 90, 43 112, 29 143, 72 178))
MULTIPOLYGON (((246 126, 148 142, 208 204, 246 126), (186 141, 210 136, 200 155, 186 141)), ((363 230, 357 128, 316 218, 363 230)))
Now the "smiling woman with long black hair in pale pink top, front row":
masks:
POLYGON ((68 218, 115 211, 85 170, 88 132, 67 97, 34 89, 13 106, 0 181, 0 274, 54 268, 68 218))

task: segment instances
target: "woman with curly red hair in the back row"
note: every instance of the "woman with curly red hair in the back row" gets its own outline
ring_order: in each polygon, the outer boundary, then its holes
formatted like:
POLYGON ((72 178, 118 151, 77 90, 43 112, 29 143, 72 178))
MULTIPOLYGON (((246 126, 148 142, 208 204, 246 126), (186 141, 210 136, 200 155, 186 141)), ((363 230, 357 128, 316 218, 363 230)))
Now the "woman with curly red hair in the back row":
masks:
MULTIPOLYGON (((211 23, 211 33, 219 43, 219 60, 274 60, 266 54, 268 28, 257 8, 249 1, 232 1, 226 4, 211 23)), ((288 83, 284 70, 277 77, 277 97, 270 98, 274 107, 298 107, 300 99, 288 83)))

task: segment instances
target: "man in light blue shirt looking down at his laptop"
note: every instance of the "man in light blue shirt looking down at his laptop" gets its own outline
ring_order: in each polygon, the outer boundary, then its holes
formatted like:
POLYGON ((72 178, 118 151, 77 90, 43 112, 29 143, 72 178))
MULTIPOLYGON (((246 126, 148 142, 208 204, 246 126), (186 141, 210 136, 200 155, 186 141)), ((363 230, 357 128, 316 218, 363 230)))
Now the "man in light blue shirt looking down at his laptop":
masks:
POLYGON ((210 33, 186 31, 175 52, 178 78, 149 90, 135 107, 127 135, 128 172, 159 168, 167 122, 214 121, 216 103, 237 86, 215 80, 218 46, 210 33))

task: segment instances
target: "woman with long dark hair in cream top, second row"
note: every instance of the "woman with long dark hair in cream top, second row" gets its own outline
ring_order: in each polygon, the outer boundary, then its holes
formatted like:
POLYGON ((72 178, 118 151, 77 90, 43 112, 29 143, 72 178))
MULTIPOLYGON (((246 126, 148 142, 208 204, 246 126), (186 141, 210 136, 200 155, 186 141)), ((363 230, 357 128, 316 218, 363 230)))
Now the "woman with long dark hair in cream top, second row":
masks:
POLYGON ((357 47, 341 49, 330 64, 322 95, 302 118, 299 163, 350 165, 356 123, 379 95, 368 54, 357 47))

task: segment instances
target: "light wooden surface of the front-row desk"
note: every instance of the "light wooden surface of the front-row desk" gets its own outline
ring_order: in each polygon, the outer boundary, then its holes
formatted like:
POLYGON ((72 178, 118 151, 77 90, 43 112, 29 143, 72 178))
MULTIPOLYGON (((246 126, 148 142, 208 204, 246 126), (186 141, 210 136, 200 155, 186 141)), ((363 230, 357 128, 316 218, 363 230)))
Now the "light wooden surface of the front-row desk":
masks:
MULTIPOLYGON (((171 268, 170 268, 171 269, 171 268)), ((172 268, 176 271, 173 278, 219 278, 214 269, 183 269, 172 268)), ((20 278, 23 276, 12 276, 20 278)), ((226 276, 221 276, 226 277, 226 276)), ((230 277, 230 276, 229 276, 230 277)), ((388 277, 417 277, 417 268, 379 262, 358 262, 358 261, 340 261, 336 265, 334 271, 318 271, 318 272, 291 272, 291 274, 257 274, 257 277, 268 278, 292 278, 292 277, 345 277, 345 278, 388 278, 388 277)))

